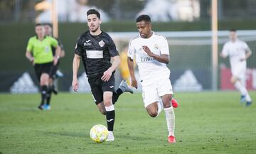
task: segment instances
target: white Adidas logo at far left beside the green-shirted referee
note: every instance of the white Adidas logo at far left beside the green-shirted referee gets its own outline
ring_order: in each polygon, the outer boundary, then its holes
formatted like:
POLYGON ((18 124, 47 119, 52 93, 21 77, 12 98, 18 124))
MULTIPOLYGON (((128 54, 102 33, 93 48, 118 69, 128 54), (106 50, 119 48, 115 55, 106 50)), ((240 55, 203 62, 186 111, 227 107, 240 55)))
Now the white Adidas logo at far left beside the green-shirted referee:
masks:
POLYGON ((33 83, 28 72, 24 72, 20 78, 10 88, 11 94, 30 94, 38 93, 38 87, 33 83))

